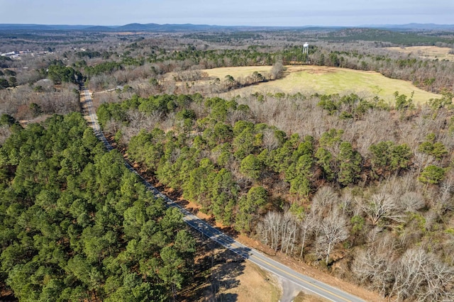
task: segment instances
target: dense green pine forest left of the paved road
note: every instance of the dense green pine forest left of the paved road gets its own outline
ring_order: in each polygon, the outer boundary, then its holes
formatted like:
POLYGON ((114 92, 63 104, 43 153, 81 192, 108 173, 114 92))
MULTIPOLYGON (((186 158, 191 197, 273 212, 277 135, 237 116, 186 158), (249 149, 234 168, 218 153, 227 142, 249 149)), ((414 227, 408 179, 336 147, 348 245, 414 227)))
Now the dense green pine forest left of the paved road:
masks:
POLYGON ((182 214, 106 152, 79 113, 0 148, 0 278, 20 301, 167 301, 190 280, 182 214))

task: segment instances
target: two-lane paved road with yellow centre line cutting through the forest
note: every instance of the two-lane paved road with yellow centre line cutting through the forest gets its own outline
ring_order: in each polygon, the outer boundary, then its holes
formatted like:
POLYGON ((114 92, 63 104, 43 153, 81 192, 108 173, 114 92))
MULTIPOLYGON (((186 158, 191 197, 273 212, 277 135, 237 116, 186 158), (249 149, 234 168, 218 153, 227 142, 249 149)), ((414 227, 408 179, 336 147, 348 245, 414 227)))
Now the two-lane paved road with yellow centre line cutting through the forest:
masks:
MULTIPOLYGON (((84 90, 84 96, 84 109, 86 110, 87 121, 89 121, 89 124, 94 129, 96 137, 104 142, 104 145, 108 150, 112 150, 112 146, 106 140, 104 133, 102 133, 101 128, 99 127, 99 123, 97 121, 93 108, 92 98, 87 89, 84 90)), ((138 174, 135 169, 133 169, 133 167, 131 167, 131 165, 129 165, 128 163, 126 163, 126 167, 128 167, 131 172, 138 174)), ((184 214, 183 219, 188 225, 211 238, 211 240, 214 240, 220 245, 223 245, 229 250, 232 250, 241 257, 257 264, 258 266, 266 269, 269 272, 272 272, 273 274, 276 274, 277 276, 281 276, 282 278, 294 282, 294 284, 301 286, 306 291, 311 291, 312 293, 315 293, 316 295, 319 295, 330 301, 362 301, 360 298, 350 295, 350 293, 345 293, 344 291, 336 289, 333 286, 329 286, 321 281, 312 279, 309 276, 299 274, 293 269, 290 269, 289 267, 286 267, 283 264, 270 259, 257 250, 251 249, 250 247, 241 244, 240 242, 234 240, 232 237, 222 233, 220 230, 213 228, 211 225, 209 225, 209 223, 204 222, 204 220, 199 219, 197 216, 187 211, 185 208, 182 208, 182 206, 179 206, 177 203, 158 191, 154 186, 149 184, 148 181, 140 176, 140 174, 138 174, 138 176, 143 180, 145 186, 147 186, 150 191, 153 191, 153 194, 155 194, 155 196, 163 198, 165 200, 167 207, 178 208, 179 211, 184 214)))

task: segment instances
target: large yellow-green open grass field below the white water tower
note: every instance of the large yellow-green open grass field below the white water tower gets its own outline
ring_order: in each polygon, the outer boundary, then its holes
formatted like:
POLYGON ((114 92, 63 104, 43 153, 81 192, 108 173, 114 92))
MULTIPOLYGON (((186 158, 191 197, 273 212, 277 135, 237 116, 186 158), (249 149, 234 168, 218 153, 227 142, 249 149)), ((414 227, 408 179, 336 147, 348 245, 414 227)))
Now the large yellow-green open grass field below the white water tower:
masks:
MULTIPOLYGON (((227 74, 233 78, 247 77, 253 72, 267 74, 271 67, 226 67, 205 69, 209 77, 223 79, 227 74)), ((416 104, 426 103, 429 99, 439 98, 438 94, 423 91, 411 82, 399 79, 389 79, 377 72, 364 72, 360 70, 321 67, 321 66, 287 66, 282 79, 248 86, 235 91, 229 91, 223 96, 248 95, 259 91, 262 93, 284 92, 288 94, 315 93, 319 94, 350 94, 355 93, 362 97, 379 96, 384 101, 392 103, 394 92, 410 96, 414 91, 416 104)))

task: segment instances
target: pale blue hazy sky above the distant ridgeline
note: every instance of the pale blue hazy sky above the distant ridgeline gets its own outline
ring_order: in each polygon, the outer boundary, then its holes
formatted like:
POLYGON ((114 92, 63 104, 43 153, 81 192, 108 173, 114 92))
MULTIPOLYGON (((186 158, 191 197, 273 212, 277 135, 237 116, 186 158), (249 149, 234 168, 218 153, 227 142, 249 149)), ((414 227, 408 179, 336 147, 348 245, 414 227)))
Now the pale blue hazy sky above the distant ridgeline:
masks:
POLYGON ((0 23, 121 26, 454 24, 454 0, 0 0, 0 23))

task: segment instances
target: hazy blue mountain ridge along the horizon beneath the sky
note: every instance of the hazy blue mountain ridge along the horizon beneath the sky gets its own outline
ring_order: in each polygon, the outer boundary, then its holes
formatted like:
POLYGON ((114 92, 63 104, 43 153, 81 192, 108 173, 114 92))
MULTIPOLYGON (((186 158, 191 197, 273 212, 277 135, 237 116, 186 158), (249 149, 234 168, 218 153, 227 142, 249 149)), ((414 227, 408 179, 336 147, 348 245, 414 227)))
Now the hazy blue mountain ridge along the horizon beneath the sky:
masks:
POLYGON ((87 30, 111 31, 211 31, 211 30, 279 30, 299 28, 384 28, 389 30, 454 30, 454 24, 409 23, 364 26, 216 26, 206 24, 157 24, 130 23, 123 26, 1 24, 0 30, 87 30))

